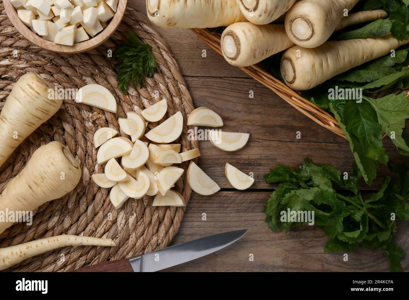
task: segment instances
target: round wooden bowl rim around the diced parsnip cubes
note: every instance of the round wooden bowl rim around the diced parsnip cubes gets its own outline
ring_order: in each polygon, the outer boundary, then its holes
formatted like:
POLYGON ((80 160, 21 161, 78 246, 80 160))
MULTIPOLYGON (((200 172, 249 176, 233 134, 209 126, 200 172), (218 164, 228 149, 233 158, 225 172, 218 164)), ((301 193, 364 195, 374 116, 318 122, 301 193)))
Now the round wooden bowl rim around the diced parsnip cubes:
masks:
POLYGON ((17 11, 11 4, 10 0, 3 0, 4 9, 6 9, 7 16, 9 17, 11 23, 14 27, 30 42, 36 44, 39 47, 47 49, 49 51, 59 52, 59 53, 79 53, 93 49, 106 40, 112 35, 112 33, 117 30, 119 24, 124 18, 125 9, 126 9, 127 0, 119 0, 117 11, 115 12, 114 17, 110 20, 109 24, 103 31, 98 33, 93 38, 86 40, 84 42, 76 43, 72 46, 60 45, 54 42, 47 41, 41 36, 38 36, 36 33, 31 31, 20 18, 18 18, 17 11))

